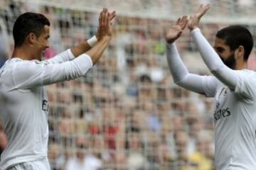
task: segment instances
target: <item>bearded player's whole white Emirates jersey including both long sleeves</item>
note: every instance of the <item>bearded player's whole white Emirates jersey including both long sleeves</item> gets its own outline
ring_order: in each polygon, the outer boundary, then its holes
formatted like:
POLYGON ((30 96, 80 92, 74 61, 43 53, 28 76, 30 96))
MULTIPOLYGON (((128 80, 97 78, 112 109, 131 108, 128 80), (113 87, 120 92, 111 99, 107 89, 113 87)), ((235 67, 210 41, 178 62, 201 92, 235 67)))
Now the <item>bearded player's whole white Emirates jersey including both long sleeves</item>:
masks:
POLYGON ((193 29, 191 35, 203 61, 215 77, 189 73, 176 46, 167 44, 166 56, 174 81, 198 94, 215 97, 216 169, 255 170, 256 72, 228 68, 199 28, 193 29))

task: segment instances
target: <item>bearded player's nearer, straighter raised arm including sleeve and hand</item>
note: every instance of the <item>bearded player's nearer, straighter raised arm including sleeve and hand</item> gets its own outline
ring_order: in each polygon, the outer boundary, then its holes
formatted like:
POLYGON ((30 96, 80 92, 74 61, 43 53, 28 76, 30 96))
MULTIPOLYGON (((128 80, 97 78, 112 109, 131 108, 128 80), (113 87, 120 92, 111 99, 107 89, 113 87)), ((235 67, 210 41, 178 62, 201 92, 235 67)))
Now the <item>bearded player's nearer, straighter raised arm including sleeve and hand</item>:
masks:
POLYGON ((231 90, 235 90, 237 84, 237 76, 235 70, 228 68, 210 46, 206 38, 203 37, 199 30, 199 22, 201 17, 208 11, 210 5, 201 5, 198 12, 191 16, 188 21, 188 29, 191 30, 193 40, 196 42, 199 52, 206 63, 210 72, 223 84, 228 86, 231 90))

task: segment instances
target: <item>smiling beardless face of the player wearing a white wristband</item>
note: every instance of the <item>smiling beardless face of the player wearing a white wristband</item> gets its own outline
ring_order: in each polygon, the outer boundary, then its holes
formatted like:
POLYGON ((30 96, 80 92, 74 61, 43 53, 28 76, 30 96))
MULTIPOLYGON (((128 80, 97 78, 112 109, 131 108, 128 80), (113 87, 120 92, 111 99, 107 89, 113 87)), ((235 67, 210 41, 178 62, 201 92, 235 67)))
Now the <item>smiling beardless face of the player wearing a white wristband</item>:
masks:
POLYGON ((36 60, 41 60, 43 51, 49 47, 48 38, 50 38, 50 27, 45 26, 43 28, 41 35, 39 35, 39 37, 36 38, 36 60))

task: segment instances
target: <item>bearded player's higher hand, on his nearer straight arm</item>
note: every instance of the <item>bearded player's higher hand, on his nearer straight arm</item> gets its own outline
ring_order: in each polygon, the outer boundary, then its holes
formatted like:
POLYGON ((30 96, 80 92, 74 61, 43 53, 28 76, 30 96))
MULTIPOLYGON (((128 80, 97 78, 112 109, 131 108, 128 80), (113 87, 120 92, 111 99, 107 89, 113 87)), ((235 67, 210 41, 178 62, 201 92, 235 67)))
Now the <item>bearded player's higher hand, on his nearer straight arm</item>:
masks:
POLYGON ((194 14, 193 16, 190 16, 190 18, 188 20, 188 29, 189 30, 198 28, 201 17, 206 13, 206 11, 208 11, 209 8, 210 8, 209 4, 201 5, 199 7, 197 13, 194 14))

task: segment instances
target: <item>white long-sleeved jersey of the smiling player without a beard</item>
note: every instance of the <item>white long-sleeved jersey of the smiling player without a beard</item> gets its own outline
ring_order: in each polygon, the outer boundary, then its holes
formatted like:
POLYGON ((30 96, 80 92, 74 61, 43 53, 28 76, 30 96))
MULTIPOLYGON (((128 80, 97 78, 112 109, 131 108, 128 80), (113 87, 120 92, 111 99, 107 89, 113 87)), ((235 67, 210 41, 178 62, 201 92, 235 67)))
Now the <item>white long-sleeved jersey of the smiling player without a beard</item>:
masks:
POLYGON ((75 79, 92 67, 88 55, 73 58, 70 50, 42 62, 12 58, 0 69, 0 120, 8 138, 1 170, 47 157, 48 98, 44 85, 75 79))

